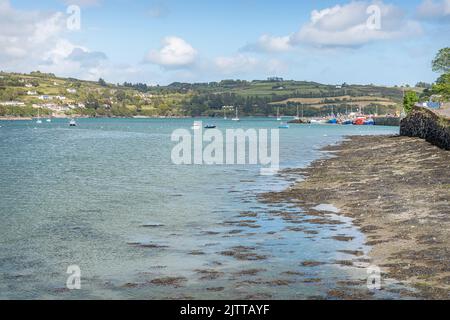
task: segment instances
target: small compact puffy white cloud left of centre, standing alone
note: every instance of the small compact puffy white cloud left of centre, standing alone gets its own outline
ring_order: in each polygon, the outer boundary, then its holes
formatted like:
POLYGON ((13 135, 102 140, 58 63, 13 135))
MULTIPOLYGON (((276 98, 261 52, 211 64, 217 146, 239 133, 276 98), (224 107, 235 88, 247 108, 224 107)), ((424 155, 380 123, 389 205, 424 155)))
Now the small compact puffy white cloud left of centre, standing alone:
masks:
POLYGON ((151 50, 146 62, 165 68, 181 68, 192 65, 197 57, 195 50, 188 42, 179 37, 165 37, 159 50, 151 50))

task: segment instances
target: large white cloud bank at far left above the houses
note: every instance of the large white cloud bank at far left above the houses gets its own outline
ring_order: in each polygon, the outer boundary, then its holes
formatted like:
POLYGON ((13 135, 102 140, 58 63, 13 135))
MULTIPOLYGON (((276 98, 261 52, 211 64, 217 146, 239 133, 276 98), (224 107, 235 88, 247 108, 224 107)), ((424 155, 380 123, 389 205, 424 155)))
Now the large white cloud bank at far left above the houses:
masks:
POLYGON ((106 56, 72 43, 67 32, 62 12, 17 10, 0 0, 0 69, 92 79, 106 56))

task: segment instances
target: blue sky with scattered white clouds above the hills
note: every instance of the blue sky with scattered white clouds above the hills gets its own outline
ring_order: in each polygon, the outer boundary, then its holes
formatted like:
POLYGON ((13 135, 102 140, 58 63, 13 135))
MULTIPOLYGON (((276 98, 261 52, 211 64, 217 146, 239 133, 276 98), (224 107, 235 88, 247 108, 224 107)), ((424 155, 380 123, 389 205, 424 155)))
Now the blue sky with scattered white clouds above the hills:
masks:
POLYGON ((0 0, 0 70, 166 85, 438 75, 450 0, 0 0))

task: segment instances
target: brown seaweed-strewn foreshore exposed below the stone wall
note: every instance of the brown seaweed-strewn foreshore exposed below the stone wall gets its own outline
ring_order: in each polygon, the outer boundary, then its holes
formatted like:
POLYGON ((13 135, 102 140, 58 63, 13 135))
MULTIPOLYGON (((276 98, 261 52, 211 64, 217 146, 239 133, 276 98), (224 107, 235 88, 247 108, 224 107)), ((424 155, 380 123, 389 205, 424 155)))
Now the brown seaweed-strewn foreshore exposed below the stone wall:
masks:
POLYGON ((366 235, 383 280, 416 288, 420 299, 449 299, 450 152, 399 136, 353 136, 324 151, 307 169, 282 173, 304 181, 263 199, 334 205, 366 235))

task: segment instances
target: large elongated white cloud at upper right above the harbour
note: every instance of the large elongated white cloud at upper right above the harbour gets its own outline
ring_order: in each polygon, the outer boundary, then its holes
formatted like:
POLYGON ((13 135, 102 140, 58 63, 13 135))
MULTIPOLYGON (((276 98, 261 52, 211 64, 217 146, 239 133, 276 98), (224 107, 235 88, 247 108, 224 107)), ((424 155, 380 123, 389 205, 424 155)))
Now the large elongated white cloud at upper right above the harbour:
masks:
POLYGON ((398 7, 381 1, 354 1, 323 10, 314 10, 310 22, 291 37, 293 44, 311 44, 319 47, 357 47, 370 42, 391 40, 422 32, 420 25, 405 18, 398 7), (373 12, 379 9, 380 28, 370 22, 373 12))

